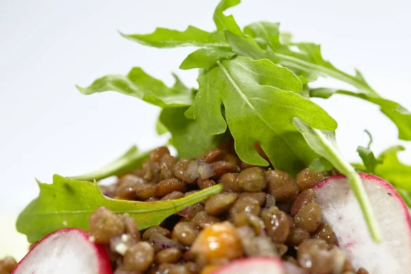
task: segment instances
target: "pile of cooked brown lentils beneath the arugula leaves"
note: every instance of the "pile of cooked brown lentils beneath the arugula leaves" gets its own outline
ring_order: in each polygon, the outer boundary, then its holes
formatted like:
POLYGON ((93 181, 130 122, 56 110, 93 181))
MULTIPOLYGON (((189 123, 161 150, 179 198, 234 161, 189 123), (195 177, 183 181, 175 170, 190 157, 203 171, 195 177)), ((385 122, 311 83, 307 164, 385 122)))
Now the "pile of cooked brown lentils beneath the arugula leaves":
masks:
MULTIPOLYGON (((100 186, 108 197, 133 201, 173 200, 224 186, 220 194, 144 231, 127 214, 96 210, 90 238, 106 245, 115 274, 211 274, 221 264, 253 256, 282 258, 307 274, 368 273, 353 269, 332 228, 321 222, 312 187, 331 174, 303 169, 293 178, 251 166, 227 144, 182 159, 158 147, 142 170, 100 186)), ((2 264, 12 263, 0 262, 0 273, 2 264)))

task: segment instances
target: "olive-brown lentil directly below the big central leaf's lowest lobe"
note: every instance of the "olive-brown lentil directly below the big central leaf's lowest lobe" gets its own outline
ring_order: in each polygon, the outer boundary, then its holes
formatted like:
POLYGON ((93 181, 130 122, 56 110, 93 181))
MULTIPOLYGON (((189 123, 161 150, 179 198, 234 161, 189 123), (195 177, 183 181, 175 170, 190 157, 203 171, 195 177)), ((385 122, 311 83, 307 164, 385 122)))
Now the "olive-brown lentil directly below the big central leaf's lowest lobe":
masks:
POLYGON ((258 166, 244 169, 237 176, 237 184, 240 188, 249 192, 257 192, 266 188, 264 171, 258 166))

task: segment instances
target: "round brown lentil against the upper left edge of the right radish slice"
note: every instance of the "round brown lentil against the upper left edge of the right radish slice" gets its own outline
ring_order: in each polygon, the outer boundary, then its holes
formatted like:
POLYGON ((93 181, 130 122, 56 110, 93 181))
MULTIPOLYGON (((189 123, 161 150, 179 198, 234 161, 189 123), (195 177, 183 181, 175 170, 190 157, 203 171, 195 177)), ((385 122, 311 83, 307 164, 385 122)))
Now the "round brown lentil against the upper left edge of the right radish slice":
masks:
POLYGON ((297 227, 306 229, 308 232, 314 232, 321 222, 321 208, 318 203, 307 203, 294 216, 294 222, 297 227))

